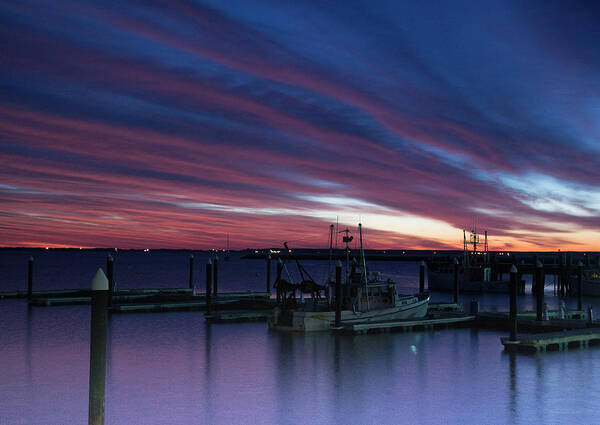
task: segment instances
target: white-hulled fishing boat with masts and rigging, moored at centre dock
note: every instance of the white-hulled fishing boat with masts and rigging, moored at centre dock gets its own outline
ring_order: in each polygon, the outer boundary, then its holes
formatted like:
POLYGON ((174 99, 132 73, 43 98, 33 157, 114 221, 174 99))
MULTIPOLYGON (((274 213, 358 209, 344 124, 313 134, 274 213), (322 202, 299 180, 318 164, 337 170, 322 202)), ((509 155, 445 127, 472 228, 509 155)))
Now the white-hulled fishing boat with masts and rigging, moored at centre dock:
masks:
MULTIPOLYGON (((369 273, 362 244, 362 225, 359 223, 361 261, 350 262, 349 243, 353 237, 348 229, 346 243, 346 279, 341 285, 341 324, 402 320, 424 317, 427 314, 429 294, 401 295, 391 279, 383 280, 379 273, 369 273)), ((286 250, 290 252, 287 244, 286 250)), ((269 328, 283 331, 327 331, 335 323, 335 300, 331 296, 333 282, 325 285, 314 282, 306 269, 295 262, 301 276, 299 284, 291 284, 280 273, 276 278, 278 305, 269 319, 269 328), (300 300, 296 292, 300 291, 300 300), (303 294, 311 294, 303 299, 303 294)), ((279 267, 284 270, 284 267, 279 267)))

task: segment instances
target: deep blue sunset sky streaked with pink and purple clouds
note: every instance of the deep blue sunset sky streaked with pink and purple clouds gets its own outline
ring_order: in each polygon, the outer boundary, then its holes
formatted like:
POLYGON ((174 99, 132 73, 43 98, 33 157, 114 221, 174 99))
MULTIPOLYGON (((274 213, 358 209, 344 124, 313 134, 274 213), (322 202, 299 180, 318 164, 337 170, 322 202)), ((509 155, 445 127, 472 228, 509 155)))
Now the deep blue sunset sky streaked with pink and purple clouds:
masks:
POLYGON ((0 245, 600 250, 599 4, 1 1, 0 245))

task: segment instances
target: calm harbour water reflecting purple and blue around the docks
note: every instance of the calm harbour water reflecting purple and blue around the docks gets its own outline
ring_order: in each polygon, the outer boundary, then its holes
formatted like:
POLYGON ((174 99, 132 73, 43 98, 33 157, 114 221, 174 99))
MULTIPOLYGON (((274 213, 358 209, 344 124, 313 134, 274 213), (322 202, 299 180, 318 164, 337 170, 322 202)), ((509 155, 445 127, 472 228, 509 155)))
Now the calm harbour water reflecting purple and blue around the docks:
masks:
MULTIPOLYGON (((25 287, 29 255, 2 254, 2 290, 25 287)), ((36 252, 36 287, 86 287, 105 255, 36 252)), ((188 256, 119 252, 117 283, 186 286, 188 256)), ((195 256, 201 284, 200 263, 207 257, 195 256)), ((315 278, 327 274, 326 263, 304 265, 315 278)), ((264 287, 262 261, 233 258, 220 266, 224 290, 264 287)), ((416 263, 371 267, 415 288, 416 263)), ((433 294, 434 300, 450 297, 433 294)), ((508 304, 503 295, 479 299, 485 310, 506 310, 508 304)), ((565 301, 576 305, 575 299, 565 301)), ((533 303, 530 296, 520 299, 521 308, 533 303)), ((586 304, 600 307, 595 299, 586 304)), ((28 308, 23 300, 0 300, 0 317, 0 423, 86 423, 89 306, 28 308)), ((201 312, 114 315, 106 423, 598 422, 599 349, 509 356, 501 335, 470 329, 288 335, 269 332, 264 323, 206 325, 201 312)))

